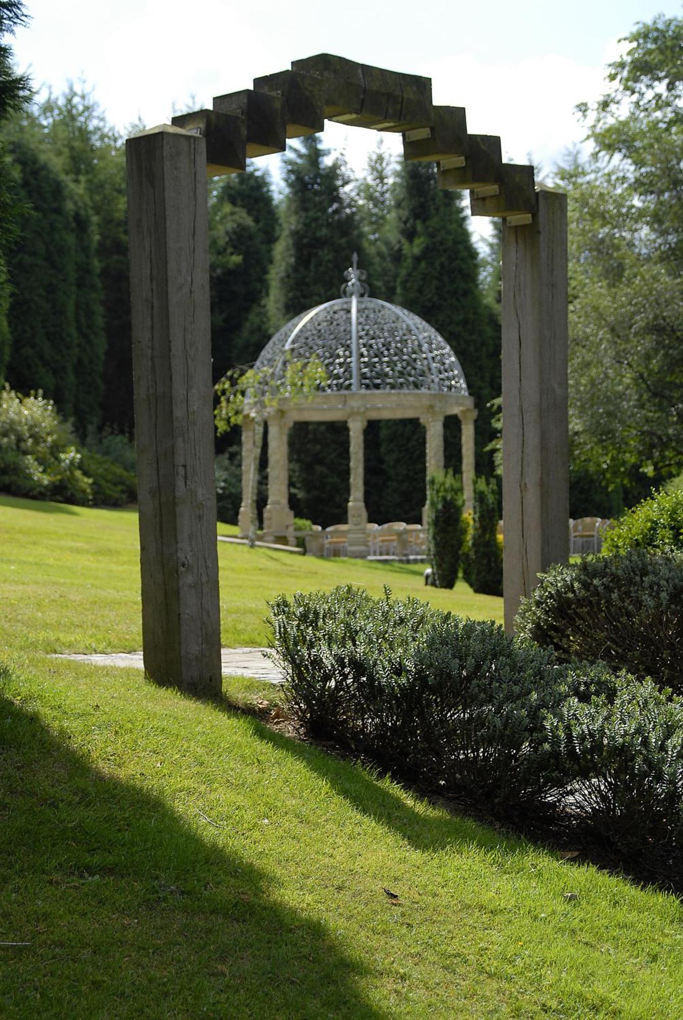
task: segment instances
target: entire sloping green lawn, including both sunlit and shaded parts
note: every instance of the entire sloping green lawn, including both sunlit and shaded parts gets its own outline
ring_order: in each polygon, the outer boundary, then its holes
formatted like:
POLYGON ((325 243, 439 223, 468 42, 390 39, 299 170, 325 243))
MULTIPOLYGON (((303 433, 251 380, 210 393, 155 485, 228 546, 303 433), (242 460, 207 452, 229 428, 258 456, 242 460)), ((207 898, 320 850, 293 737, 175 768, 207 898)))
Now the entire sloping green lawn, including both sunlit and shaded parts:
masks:
MULTIPOLYGON (((683 1016, 673 897, 272 732, 230 707, 253 681, 206 704, 48 658, 139 647, 136 547, 129 512, 0 506, 0 942, 30 944, 0 945, 2 1020, 683 1016)), ((263 641, 276 591, 424 594, 410 568, 219 555, 228 644, 263 641)))

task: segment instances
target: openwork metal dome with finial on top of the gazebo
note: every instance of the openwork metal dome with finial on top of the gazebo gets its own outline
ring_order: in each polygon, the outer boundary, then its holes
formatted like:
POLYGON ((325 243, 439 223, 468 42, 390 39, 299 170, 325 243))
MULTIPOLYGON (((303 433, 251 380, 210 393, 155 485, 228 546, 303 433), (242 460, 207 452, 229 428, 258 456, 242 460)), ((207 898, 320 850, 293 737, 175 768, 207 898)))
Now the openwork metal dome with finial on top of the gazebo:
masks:
POLYGON ((275 378, 287 355, 317 356, 327 372, 323 392, 407 390, 467 396, 458 358, 443 338, 414 312, 367 295, 365 272, 354 265, 336 301, 291 319, 264 347, 255 368, 275 378))

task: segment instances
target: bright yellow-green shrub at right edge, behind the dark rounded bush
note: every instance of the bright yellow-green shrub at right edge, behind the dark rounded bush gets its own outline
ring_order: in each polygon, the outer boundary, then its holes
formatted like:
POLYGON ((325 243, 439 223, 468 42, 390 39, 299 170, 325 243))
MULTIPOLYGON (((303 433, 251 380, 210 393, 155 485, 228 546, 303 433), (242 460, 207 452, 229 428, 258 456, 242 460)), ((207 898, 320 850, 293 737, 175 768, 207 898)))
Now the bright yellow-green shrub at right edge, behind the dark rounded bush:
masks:
POLYGON ((661 490, 628 510, 605 534, 603 553, 683 552, 683 489, 661 490))

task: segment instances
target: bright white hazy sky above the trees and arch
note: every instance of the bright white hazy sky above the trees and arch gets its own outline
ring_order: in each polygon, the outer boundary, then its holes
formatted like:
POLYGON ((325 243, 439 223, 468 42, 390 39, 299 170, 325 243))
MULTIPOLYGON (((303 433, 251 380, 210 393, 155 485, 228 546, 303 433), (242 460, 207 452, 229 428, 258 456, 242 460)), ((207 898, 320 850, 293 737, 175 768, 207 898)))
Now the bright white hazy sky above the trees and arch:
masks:
MULTIPOLYGON (((605 65, 636 21, 671 0, 24 0, 13 41, 35 87, 84 81, 122 132, 168 121, 316 53, 432 80, 435 103, 465 106, 468 130, 500 135, 505 158, 548 173, 585 129, 577 103, 605 90, 605 65)), ((621 47, 623 49, 623 46, 621 47)), ((385 134, 401 151, 401 136, 385 134)), ((376 133, 328 124, 324 142, 362 171, 376 133)), ((277 176, 279 157, 266 157, 277 176)))

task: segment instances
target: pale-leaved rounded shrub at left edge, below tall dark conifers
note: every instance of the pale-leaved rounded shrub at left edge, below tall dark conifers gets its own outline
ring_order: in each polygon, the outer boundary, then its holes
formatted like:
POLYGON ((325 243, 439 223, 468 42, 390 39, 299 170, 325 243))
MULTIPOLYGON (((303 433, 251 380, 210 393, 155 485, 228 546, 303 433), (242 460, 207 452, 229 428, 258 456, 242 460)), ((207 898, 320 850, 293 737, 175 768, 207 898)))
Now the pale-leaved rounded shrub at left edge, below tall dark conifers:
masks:
POLYGON ((41 393, 0 390, 0 490, 57 503, 91 501, 71 429, 41 393))

